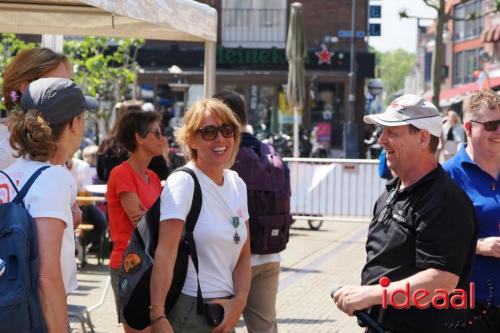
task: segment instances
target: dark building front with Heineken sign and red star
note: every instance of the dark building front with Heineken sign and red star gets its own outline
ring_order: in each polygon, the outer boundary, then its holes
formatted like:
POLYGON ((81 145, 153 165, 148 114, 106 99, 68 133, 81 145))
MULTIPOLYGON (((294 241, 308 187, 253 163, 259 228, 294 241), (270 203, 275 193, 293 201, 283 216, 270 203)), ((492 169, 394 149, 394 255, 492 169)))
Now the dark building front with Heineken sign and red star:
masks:
MULTIPOLYGON (((219 12, 216 90, 230 89, 243 94, 254 128, 265 125, 275 133, 290 132, 293 119, 285 97, 288 74, 285 45, 293 1, 202 2, 219 12)), ((342 128, 349 95, 351 9, 352 0, 303 2, 307 99, 302 124, 306 129, 320 124, 321 140, 330 148, 343 145, 342 128)), ((368 0, 357 0, 354 118, 359 123, 362 123, 365 79, 373 77, 375 66, 365 37, 367 9, 368 0)), ((145 95, 149 91, 155 103, 181 101, 178 105, 182 109, 182 104, 202 97, 203 45, 147 41, 138 60, 143 68, 138 83, 145 95)))

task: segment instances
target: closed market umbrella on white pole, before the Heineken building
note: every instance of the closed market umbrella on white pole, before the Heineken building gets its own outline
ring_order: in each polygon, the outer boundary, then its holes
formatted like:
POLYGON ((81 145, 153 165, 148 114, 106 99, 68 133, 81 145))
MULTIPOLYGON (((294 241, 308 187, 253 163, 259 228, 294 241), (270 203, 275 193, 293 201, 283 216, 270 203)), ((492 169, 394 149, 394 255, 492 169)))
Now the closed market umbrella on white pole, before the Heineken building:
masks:
POLYGON ((291 5, 286 40, 286 58, 288 59, 287 97, 290 107, 293 108, 293 157, 299 157, 299 110, 303 109, 306 94, 305 57, 306 45, 302 4, 294 2, 291 5))

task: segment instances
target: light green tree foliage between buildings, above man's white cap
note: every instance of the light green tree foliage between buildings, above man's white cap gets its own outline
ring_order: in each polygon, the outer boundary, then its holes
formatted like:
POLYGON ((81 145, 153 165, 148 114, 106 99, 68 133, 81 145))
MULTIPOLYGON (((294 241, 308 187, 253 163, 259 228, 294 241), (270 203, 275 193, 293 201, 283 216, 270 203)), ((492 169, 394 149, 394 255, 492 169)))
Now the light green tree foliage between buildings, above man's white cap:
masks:
POLYGON ((384 83, 388 96, 404 88, 405 78, 414 68, 415 54, 402 49, 390 52, 375 51, 376 73, 384 83))

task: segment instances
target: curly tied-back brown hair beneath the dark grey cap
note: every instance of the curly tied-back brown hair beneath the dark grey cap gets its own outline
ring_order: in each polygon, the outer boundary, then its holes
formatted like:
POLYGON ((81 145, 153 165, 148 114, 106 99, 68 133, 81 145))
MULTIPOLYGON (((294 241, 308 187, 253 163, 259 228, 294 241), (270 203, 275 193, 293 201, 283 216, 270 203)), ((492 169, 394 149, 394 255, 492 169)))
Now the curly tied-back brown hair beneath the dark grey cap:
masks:
POLYGON ((45 162, 57 150, 57 142, 64 128, 73 119, 50 125, 38 110, 11 112, 8 120, 9 142, 15 157, 29 157, 32 161, 45 162))

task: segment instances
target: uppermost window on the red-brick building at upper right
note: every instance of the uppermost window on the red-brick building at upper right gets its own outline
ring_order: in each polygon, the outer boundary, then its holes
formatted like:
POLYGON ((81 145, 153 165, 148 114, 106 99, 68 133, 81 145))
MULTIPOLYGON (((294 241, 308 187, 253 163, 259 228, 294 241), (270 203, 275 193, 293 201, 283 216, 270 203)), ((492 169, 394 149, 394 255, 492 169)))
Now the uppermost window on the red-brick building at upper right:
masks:
POLYGON ((467 39, 478 38, 484 28, 484 17, 481 14, 484 12, 485 1, 473 0, 467 3, 455 6, 454 16, 458 19, 454 22, 453 39, 462 41, 467 39), (475 19, 468 19, 475 16, 475 19))

